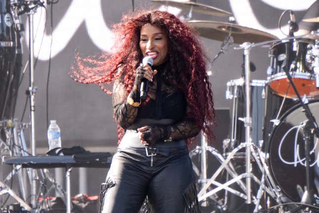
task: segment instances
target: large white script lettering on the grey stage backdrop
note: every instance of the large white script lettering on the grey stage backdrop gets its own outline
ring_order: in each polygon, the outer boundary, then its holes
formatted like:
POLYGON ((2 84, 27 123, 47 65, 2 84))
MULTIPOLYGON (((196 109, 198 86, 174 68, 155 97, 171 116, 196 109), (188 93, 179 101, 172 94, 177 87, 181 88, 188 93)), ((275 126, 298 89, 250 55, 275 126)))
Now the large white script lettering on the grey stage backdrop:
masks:
MULTIPOLYGON (((181 0, 183 1, 183 0, 181 0)), ((314 0, 290 0, 287 3, 287 0, 262 0, 264 3, 273 6, 278 9, 287 9, 288 7, 293 10, 305 10, 307 9, 314 0)), ((257 20, 255 13, 253 12, 249 0, 229 0, 232 12, 237 20, 238 24, 255 28, 258 30, 262 30, 268 33, 271 33, 279 38, 283 38, 284 35, 279 31, 279 29, 268 29, 264 27, 257 20)), ((168 10, 169 12, 179 15, 180 9, 174 7, 166 7, 161 6, 160 10, 168 10)), ((39 52, 40 47, 41 51, 39 53, 40 60, 48 60, 49 51, 50 51, 50 43, 51 43, 51 34, 43 35, 46 15, 45 10, 41 7, 38 12, 34 15, 34 23, 35 25, 39 24, 38 35, 35 40, 34 50, 37 54, 39 52), (42 10, 42 15, 41 11, 42 10), (43 42, 41 44, 42 38, 43 42)), ((109 26, 105 23, 103 18, 102 8, 101 8, 101 0, 91 0, 90 7, 88 7, 87 1, 84 0, 73 0, 67 9, 61 21, 56 25, 53 29, 53 40, 51 47, 51 58, 64 50, 69 41, 73 38, 76 31, 79 29, 82 23, 85 23, 87 28, 87 33, 91 41, 97 48, 111 52, 111 47, 114 42, 113 33, 109 29, 109 26)), ((28 32, 28 26, 26 26, 26 32, 28 32)), ((284 31, 287 31, 287 26, 283 27, 284 31)), ((49 28, 46 30, 49 32, 49 28)), ((25 41, 28 41, 28 34, 26 34, 25 41)), ((27 43, 27 42, 26 42, 27 43)), ((28 45, 28 44, 27 44, 28 45)))

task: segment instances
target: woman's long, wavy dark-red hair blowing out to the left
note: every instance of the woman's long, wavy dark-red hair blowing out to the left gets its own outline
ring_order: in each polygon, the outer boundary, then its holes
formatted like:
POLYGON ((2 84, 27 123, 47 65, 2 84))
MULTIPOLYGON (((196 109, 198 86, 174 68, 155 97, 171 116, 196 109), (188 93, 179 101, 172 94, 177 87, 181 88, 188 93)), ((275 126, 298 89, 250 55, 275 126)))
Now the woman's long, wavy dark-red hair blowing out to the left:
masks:
MULTIPOLYGON (((194 29, 171 13, 148 11, 124 15, 121 23, 112 26, 116 38, 113 53, 89 57, 77 54, 71 76, 81 83, 96 83, 107 94, 112 92, 103 85, 121 76, 127 92, 130 93, 136 76, 135 70, 143 57, 139 49, 140 29, 147 23, 160 28, 168 38, 170 72, 176 79, 176 86, 185 94, 187 105, 191 109, 188 110, 187 117, 194 119, 209 138, 214 137, 210 129, 215 120, 213 93, 206 73, 204 53, 194 36, 194 29), (119 65, 121 69, 118 69, 119 65)), ((120 141, 123 129, 119 125, 118 133, 120 141)))

